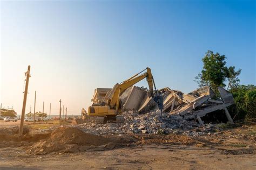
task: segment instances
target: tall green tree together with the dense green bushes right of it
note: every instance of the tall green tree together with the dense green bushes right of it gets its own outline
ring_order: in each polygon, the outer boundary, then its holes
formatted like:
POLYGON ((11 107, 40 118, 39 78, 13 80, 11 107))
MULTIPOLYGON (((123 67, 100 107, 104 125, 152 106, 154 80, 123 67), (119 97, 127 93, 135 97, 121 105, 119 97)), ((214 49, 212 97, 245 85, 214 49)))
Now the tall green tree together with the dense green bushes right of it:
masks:
POLYGON ((218 95, 218 86, 231 91, 235 105, 230 107, 235 119, 256 118, 256 87, 254 85, 239 85, 238 76, 241 69, 235 70, 234 66, 226 67, 225 55, 207 51, 202 59, 204 66, 195 81, 199 87, 210 86, 218 95), (226 84, 225 84, 226 83, 226 84))

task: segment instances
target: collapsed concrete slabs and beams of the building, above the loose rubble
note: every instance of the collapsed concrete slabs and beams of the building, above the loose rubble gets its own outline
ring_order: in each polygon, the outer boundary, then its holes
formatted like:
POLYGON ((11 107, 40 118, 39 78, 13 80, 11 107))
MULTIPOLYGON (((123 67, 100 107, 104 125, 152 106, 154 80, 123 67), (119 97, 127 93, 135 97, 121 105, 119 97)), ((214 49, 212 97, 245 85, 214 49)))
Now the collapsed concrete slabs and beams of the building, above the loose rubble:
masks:
MULTIPOLYGON (((169 87, 160 89, 159 91, 164 101, 163 112, 167 112, 170 115, 180 115, 187 120, 198 119, 198 122, 204 125, 201 117, 215 110, 223 109, 225 110, 228 121, 233 123, 227 107, 234 104, 234 98, 224 88, 218 87, 218 90, 221 98, 215 100, 215 94, 210 87, 199 88, 188 94, 184 94, 178 90, 171 90, 169 87)), ((146 95, 146 89, 133 86, 127 89, 121 98, 123 98, 124 110, 138 111, 139 114, 144 114, 152 110, 159 111, 157 104, 152 100, 151 96, 146 95), (142 100, 143 96, 144 99, 142 100)))

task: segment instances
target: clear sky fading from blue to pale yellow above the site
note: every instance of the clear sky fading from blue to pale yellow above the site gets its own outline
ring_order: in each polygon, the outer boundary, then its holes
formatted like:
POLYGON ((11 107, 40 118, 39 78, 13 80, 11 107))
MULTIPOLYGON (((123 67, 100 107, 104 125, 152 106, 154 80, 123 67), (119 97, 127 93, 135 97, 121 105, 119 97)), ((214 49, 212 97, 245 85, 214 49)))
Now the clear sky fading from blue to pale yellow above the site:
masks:
POLYGON ((1 1, 1 103, 21 111, 28 65, 26 111, 37 90, 36 111, 62 98, 79 113, 93 89, 146 67, 157 88, 188 93, 208 49, 255 84, 255 20, 255 1, 1 1))

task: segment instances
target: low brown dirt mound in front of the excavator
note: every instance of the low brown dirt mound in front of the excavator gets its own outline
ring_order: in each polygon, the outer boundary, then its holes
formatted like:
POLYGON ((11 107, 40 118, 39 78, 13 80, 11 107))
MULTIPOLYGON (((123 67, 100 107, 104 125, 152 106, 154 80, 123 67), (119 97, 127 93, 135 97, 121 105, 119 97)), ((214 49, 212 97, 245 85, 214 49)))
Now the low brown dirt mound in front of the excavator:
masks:
POLYGON ((51 152, 79 152, 86 150, 105 150, 116 147, 119 141, 104 138, 74 127, 63 126, 50 134, 49 138, 40 140, 28 148, 29 154, 47 154, 51 152))

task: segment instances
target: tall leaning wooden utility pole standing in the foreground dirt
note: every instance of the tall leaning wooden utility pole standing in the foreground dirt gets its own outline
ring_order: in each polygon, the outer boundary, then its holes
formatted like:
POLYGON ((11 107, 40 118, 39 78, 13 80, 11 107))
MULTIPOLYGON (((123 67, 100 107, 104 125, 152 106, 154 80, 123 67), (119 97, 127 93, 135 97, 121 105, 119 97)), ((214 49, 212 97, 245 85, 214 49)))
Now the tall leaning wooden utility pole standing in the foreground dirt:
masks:
POLYGON ((30 66, 28 66, 28 71, 25 73, 25 75, 26 75, 26 87, 25 87, 23 106, 22 106, 21 125, 19 126, 19 136, 21 136, 23 133, 23 124, 24 124, 25 109, 26 109, 26 97, 28 96, 28 88, 29 88, 30 66))

